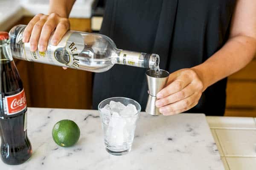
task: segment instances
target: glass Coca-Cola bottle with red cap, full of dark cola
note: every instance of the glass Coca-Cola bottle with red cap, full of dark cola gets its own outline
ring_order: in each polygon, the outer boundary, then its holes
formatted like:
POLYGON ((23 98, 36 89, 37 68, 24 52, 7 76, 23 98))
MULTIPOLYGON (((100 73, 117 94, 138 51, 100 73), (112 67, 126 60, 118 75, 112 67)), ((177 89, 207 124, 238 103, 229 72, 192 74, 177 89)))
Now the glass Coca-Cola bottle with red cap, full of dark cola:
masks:
POLYGON ((12 59, 9 35, 0 31, 0 153, 6 164, 22 164, 32 155, 26 113, 26 96, 12 59))

